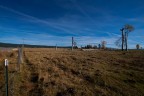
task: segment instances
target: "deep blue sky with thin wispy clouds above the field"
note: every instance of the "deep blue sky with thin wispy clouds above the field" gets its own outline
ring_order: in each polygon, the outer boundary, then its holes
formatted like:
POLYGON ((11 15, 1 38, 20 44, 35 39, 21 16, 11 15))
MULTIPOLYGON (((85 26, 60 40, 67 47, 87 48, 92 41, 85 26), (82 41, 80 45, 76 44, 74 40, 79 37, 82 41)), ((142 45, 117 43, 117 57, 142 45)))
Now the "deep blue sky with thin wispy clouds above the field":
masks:
POLYGON ((78 46, 121 36, 131 24, 129 48, 144 46, 144 0, 0 0, 0 42, 78 46))

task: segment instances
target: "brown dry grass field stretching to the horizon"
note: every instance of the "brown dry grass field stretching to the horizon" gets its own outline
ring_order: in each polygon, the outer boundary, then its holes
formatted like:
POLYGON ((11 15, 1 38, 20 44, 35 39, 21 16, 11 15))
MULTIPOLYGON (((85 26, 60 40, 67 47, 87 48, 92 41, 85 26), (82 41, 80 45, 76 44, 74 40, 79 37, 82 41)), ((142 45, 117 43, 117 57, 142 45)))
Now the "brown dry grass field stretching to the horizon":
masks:
POLYGON ((13 96, 144 96, 144 51, 25 49, 18 72, 17 52, 1 52, 0 96, 4 58, 15 73, 13 96))

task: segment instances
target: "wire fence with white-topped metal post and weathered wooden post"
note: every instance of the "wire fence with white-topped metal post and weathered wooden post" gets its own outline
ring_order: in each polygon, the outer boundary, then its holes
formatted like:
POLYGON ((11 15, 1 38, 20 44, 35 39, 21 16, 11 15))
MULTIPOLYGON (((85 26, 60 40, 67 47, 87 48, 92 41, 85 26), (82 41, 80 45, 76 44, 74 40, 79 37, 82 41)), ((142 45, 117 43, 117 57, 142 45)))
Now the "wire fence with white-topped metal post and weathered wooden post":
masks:
MULTIPOLYGON (((4 50, 2 50, 3 52, 7 51, 8 53, 12 54, 13 51, 10 48, 5 48, 4 50)), ((20 65, 23 63, 23 47, 18 48, 17 51, 15 51, 14 53, 16 53, 16 56, 13 57, 13 63, 11 58, 9 57, 5 57, 8 59, 5 59, 5 71, 3 72, 3 76, 5 77, 4 84, 0 84, 0 96, 4 95, 4 96, 15 96, 15 90, 17 87, 17 82, 16 79, 19 75, 20 72, 20 65), (17 62, 16 62, 17 61, 17 62), (9 62, 9 64, 8 64, 9 62), (7 64, 7 66, 6 66, 7 64)), ((0 73, 2 74, 2 73, 0 73)), ((2 76, 2 75, 1 75, 2 76)), ((2 77, 3 77, 2 76, 2 77)), ((3 80, 1 78, 1 80, 3 80)), ((4 82, 3 81, 3 82, 4 82)))

